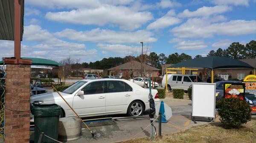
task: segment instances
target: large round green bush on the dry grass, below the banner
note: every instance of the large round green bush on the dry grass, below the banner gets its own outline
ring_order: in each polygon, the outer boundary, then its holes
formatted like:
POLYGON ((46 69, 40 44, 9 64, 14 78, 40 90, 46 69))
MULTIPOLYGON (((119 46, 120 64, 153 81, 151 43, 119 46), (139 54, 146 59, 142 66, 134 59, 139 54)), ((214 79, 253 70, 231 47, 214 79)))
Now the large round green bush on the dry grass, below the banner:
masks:
POLYGON ((240 98, 222 98, 216 104, 221 123, 226 128, 239 127, 251 119, 250 105, 240 98))

